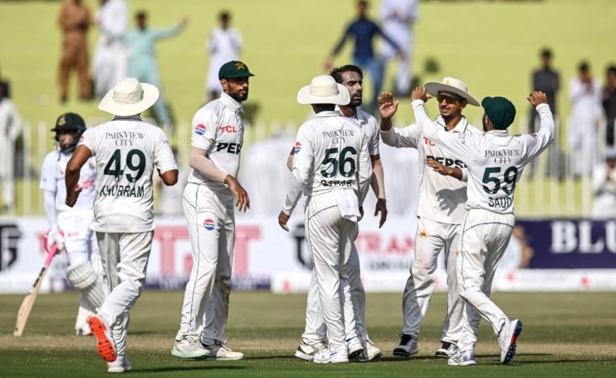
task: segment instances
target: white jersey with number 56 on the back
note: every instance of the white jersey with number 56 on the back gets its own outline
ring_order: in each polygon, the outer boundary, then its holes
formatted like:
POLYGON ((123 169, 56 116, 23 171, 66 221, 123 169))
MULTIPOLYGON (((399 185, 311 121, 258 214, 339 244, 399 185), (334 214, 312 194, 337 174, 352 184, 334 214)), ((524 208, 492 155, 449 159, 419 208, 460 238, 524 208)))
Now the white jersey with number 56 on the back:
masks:
POLYGON ((291 182, 283 211, 289 215, 302 195, 350 189, 361 205, 372 165, 362 129, 338 112, 319 112, 297 131, 291 182))

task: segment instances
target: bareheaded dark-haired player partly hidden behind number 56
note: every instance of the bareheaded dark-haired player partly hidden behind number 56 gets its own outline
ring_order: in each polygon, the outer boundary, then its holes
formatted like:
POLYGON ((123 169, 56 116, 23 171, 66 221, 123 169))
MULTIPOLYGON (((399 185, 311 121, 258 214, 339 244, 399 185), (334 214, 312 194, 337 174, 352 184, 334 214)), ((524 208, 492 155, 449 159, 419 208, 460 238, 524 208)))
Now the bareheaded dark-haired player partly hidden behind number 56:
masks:
MULTIPOLYGON (((379 227, 387 220, 387 203, 385 200, 383 165, 379 155, 379 126, 372 115, 359 109, 363 96, 363 72, 358 66, 348 64, 333 69, 330 75, 336 83, 343 85, 349 93, 350 102, 347 105, 338 105, 336 110, 343 116, 356 122, 368 141, 368 152, 372 163, 372 179, 370 186, 377 196, 375 216, 380 213, 379 227)), ((292 170, 295 148, 287 159, 287 166, 292 170)), ((382 357, 383 353, 370 340, 365 326, 366 294, 361 281, 360 261, 353 241, 348 261, 348 285, 350 288, 351 303, 355 317, 355 329, 346 329, 349 357, 358 358, 367 362, 382 357)), ((314 355, 326 347, 326 324, 321 311, 319 290, 316 282, 316 272, 312 271, 312 279, 308 289, 306 306, 306 326, 302 334, 302 342, 297 347, 295 357, 312 361, 314 355)))

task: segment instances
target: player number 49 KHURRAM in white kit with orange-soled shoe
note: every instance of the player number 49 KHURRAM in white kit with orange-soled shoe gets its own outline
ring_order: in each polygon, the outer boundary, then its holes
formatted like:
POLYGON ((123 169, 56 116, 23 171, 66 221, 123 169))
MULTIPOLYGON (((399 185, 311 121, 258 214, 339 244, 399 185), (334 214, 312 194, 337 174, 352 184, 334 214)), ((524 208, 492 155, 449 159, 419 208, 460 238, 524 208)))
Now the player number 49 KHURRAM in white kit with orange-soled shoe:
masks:
POLYGON ((164 132, 143 122, 139 114, 154 105, 154 85, 124 78, 110 90, 98 109, 114 114, 110 122, 88 129, 67 164, 66 203, 72 207, 81 167, 96 158, 94 223, 105 271, 107 297, 89 319, 98 354, 108 372, 125 372, 129 312, 143 290, 154 236, 154 167, 166 185, 178 180, 178 165, 164 132))

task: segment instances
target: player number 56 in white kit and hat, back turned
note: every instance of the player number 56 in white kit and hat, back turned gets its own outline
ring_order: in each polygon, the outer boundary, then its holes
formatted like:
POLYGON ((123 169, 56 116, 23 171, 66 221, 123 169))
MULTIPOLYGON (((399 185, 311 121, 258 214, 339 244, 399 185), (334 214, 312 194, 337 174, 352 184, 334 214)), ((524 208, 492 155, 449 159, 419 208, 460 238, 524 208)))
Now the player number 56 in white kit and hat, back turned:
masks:
POLYGON ((329 336, 329 348, 312 358, 317 363, 348 362, 346 330, 355 329, 348 306, 348 261, 372 166, 363 130, 333 111, 349 100, 346 87, 329 75, 316 76, 297 93, 297 102, 312 105, 316 115, 297 131, 291 183, 278 215, 280 227, 288 231, 287 221, 303 190, 307 245, 329 336))

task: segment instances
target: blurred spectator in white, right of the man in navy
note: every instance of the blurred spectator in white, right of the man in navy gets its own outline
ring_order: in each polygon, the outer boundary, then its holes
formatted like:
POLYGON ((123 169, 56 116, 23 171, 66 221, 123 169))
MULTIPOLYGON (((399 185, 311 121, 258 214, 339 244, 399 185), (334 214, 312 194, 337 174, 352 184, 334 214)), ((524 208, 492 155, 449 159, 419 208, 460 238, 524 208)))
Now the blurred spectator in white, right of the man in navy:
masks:
MULTIPOLYGON (((398 72, 396 74, 394 90, 397 95, 409 93, 412 79, 411 48, 413 46, 413 23, 417 20, 418 0, 383 0, 381 4, 381 18, 383 33, 392 37, 401 49, 399 54, 398 72)), ((396 49, 389 43, 381 46, 383 64, 387 64, 396 55, 396 49)))

